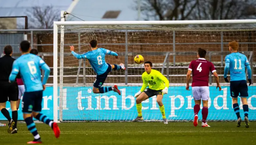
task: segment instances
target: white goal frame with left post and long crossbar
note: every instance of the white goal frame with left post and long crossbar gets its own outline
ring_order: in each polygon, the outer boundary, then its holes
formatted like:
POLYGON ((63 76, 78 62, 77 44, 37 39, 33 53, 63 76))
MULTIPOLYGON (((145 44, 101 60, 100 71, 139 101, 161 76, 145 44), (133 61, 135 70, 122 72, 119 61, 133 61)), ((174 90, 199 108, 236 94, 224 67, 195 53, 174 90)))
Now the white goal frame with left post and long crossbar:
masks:
MULTIPOLYGON (((178 21, 60 21, 54 22, 53 44, 53 118, 58 122, 58 26, 66 25, 186 25, 186 24, 252 24, 256 20, 178 20, 178 21)), ((60 31, 64 35, 64 29, 60 31)), ((62 39, 62 37, 61 37, 62 39)), ((60 47, 63 47, 60 44, 60 47)), ((62 49, 63 50, 63 49, 62 49)), ((63 62, 63 61, 62 61, 63 62)), ((60 64, 60 67, 63 64, 60 64)), ((60 72, 63 73, 63 72, 60 72)), ((61 81, 61 80, 60 80, 61 81)), ((62 84, 60 83, 60 87, 62 84)), ((60 92, 61 93, 61 92, 60 92)), ((61 119, 60 119, 61 120, 61 119)))

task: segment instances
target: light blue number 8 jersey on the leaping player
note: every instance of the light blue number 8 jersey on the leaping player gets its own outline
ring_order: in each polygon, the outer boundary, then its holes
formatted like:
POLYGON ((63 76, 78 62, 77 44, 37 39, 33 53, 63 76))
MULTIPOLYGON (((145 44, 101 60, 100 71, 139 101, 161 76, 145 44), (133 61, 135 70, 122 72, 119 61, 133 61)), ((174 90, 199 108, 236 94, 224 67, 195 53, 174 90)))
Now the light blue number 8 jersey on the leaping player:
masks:
POLYGON ((108 64, 105 62, 105 55, 118 56, 116 52, 112 52, 110 50, 104 48, 98 48, 96 50, 92 50, 90 52, 86 52, 85 54, 77 54, 76 52, 71 52, 77 59, 88 59, 90 65, 93 70, 97 73, 97 75, 101 75, 108 69, 108 64))

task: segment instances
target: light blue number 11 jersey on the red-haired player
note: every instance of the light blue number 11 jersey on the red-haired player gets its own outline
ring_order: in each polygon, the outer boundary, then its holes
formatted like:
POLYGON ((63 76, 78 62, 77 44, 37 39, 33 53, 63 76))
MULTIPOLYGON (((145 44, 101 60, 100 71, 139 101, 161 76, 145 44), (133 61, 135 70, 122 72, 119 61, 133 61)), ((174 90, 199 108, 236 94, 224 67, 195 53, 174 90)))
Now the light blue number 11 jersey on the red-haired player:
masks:
POLYGON ((230 70, 230 81, 246 80, 245 67, 248 70, 248 79, 251 79, 251 68, 248 59, 244 54, 234 52, 225 58, 224 77, 227 77, 228 70, 230 70))

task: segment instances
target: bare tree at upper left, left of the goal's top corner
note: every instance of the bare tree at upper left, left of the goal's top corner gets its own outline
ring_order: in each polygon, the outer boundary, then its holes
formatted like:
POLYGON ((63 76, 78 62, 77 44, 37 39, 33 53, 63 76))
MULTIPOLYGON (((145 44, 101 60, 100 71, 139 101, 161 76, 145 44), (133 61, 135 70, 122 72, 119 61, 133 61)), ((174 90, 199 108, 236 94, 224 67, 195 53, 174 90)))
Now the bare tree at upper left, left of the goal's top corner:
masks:
POLYGON ((53 22, 60 20, 60 11, 53 6, 34 6, 27 10, 29 29, 52 29, 53 22))

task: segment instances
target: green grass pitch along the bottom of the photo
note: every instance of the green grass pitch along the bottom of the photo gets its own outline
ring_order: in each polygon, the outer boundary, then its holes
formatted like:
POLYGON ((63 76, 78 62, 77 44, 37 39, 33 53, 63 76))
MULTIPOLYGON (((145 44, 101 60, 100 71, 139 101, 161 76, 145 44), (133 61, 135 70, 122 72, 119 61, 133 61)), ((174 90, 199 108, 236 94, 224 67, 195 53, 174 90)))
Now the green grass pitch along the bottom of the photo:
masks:
MULTIPOLYGON (((211 127, 194 127, 192 122, 116 122, 59 123, 60 138, 48 125, 36 123, 44 144, 48 145, 255 145, 256 122, 250 128, 235 122, 209 122, 211 127)), ((18 134, 8 134, 0 127, 2 145, 22 145, 33 139, 25 123, 18 124, 18 134)))

